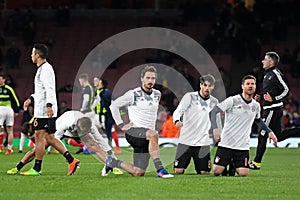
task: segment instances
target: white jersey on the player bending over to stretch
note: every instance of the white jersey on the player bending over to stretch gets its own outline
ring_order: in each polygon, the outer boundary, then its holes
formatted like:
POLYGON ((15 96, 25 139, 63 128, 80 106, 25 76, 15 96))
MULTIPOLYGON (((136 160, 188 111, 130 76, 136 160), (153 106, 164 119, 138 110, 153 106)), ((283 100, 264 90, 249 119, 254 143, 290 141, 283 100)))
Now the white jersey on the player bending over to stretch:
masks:
MULTIPOLYGON (((77 133, 77 121, 78 119, 86 117, 82 112, 80 111, 67 111, 64 114, 62 114, 59 118, 56 120, 56 132, 55 132, 55 137, 57 139, 61 139, 63 136, 67 137, 79 137, 77 133)), ((94 124, 92 124, 91 127, 91 135, 95 139, 95 141, 99 144, 99 146, 104 150, 104 151, 110 151, 111 147, 107 143, 107 141, 101 136, 99 133, 98 129, 94 124)))

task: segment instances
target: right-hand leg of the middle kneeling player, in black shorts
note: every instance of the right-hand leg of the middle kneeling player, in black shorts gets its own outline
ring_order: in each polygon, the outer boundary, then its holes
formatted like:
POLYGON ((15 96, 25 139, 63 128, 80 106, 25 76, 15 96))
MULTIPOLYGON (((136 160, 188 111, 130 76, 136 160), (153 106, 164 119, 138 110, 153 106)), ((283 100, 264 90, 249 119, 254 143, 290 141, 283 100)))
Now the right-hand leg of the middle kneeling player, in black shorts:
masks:
POLYGON ((197 174, 208 174, 211 170, 210 146, 191 147, 197 174))

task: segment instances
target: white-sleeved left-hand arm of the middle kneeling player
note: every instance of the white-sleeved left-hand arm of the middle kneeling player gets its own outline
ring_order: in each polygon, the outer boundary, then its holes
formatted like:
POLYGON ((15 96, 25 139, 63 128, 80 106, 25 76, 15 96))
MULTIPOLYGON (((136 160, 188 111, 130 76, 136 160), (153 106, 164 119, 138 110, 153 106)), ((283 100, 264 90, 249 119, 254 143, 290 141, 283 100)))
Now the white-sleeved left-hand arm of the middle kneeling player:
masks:
POLYGON ((190 93, 186 93, 182 97, 179 105, 177 106, 176 110, 173 113, 173 122, 176 127, 179 128, 179 127, 183 126, 181 117, 182 117, 183 113, 186 111, 186 109, 188 108, 188 106, 190 105, 190 103, 191 103, 191 95, 190 95, 190 93))

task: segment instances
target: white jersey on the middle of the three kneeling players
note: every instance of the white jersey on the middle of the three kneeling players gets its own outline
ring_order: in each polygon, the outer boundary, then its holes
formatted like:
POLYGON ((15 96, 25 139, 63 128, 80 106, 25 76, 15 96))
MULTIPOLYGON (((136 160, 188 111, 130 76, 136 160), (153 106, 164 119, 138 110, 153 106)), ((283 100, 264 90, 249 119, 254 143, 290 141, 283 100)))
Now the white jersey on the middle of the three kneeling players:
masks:
POLYGON ((209 112, 218 103, 219 101, 213 96, 205 100, 199 92, 186 93, 173 113, 174 123, 183 116, 178 142, 189 146, 210 145, 209 112))

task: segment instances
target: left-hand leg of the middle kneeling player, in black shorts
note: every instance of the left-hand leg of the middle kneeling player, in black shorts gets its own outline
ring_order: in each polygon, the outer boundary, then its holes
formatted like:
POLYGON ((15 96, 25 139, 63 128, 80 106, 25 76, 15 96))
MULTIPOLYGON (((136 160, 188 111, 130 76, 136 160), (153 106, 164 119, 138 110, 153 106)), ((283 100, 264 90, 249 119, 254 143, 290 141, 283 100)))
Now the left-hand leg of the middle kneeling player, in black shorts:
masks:
POLYGON ((176 149, 174 161, 174 173, 184 174, 185 169, 191 162, 192 154, 189 146, 179 143, 176 149))

